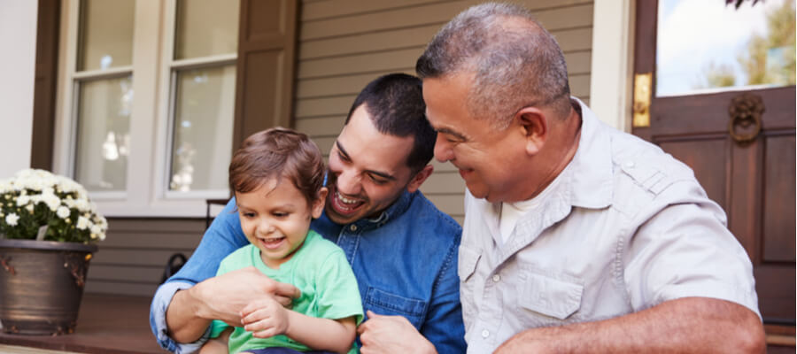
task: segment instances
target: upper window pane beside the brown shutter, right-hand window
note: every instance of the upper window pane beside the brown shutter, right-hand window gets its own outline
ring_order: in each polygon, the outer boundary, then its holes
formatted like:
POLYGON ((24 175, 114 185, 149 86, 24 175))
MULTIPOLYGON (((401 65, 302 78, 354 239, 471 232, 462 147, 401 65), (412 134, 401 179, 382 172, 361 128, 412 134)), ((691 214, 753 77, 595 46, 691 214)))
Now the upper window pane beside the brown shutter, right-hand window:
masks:
POLYGON ((239 1, 178 0, 174 58, 235 54, 239 1))

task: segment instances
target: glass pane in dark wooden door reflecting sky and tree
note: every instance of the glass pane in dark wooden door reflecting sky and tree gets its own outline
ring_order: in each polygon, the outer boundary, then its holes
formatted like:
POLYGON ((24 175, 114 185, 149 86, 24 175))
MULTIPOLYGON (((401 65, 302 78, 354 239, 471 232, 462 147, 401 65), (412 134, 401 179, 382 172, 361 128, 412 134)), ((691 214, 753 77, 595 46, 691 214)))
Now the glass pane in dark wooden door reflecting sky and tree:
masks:
POLYGON ((656 95, 794 84, 794 0, 660 0, 656 95))

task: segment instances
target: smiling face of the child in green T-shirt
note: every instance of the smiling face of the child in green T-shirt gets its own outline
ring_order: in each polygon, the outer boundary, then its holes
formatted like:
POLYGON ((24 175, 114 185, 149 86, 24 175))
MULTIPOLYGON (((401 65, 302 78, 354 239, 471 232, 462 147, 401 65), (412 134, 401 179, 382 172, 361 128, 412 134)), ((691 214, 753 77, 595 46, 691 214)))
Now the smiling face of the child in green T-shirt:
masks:
POLYGON ((260 250, 263 263, 278 268, 293 256, 310 229, 310 220, 321 216, 326 189, 321 197, 307 203, 305 196, 289 180, 272 179, 249 193, 236 192, 241 228, 246 238, 260 250))

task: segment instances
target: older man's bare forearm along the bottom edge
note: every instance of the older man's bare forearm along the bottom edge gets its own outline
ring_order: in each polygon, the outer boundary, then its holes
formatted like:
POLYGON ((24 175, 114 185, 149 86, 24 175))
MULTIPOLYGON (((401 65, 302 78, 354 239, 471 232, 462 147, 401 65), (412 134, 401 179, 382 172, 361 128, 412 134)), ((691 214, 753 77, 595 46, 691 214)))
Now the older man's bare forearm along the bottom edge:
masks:
POLYGON ((523 331, 495 353, 763 353, 761 320, 708 297, 670 300, 615 319, 523 331))

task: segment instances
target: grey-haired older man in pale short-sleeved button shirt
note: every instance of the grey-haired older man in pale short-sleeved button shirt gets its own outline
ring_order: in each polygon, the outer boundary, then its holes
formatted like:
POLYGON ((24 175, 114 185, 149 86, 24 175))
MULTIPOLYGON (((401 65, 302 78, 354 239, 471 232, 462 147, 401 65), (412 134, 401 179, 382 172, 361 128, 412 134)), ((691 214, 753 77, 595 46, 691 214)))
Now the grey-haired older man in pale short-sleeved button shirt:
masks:
POLYGON ((752 266, 684 164, 600 123, 530 13, 481 4, 416 71, 468 187, 468 352, 762 352, 752 266))

